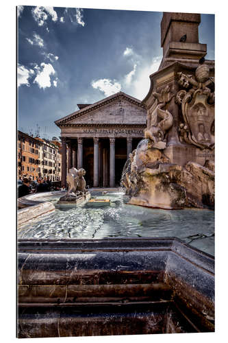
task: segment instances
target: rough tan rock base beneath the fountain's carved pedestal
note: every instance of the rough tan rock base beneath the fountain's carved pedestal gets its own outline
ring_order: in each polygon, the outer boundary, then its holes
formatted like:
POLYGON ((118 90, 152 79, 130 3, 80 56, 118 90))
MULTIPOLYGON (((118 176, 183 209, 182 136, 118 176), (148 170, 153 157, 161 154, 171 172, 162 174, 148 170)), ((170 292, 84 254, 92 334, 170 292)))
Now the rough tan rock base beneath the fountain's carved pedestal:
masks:
POLYGON ((205 167, 194 162, 170 163, 169 158, 144 139, 132 154, 123 173, 129 204, 183 209, 214 208, 214 162, 205 167))

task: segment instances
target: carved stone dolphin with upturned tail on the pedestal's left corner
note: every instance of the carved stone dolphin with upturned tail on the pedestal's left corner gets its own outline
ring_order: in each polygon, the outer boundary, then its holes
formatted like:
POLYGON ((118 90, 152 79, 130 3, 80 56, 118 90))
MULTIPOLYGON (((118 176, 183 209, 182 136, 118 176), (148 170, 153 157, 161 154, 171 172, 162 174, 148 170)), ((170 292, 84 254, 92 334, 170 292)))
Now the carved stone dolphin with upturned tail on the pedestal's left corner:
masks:
POLYGON ((149 139, 149 147, 164 149, 166 132, 173 126, 173 115, 164 107, 173 98, 169 86, 162 89, 161 93, 153 93, 155 102, 147 113, 147 129, 144 132, 145 139, 149 139))

